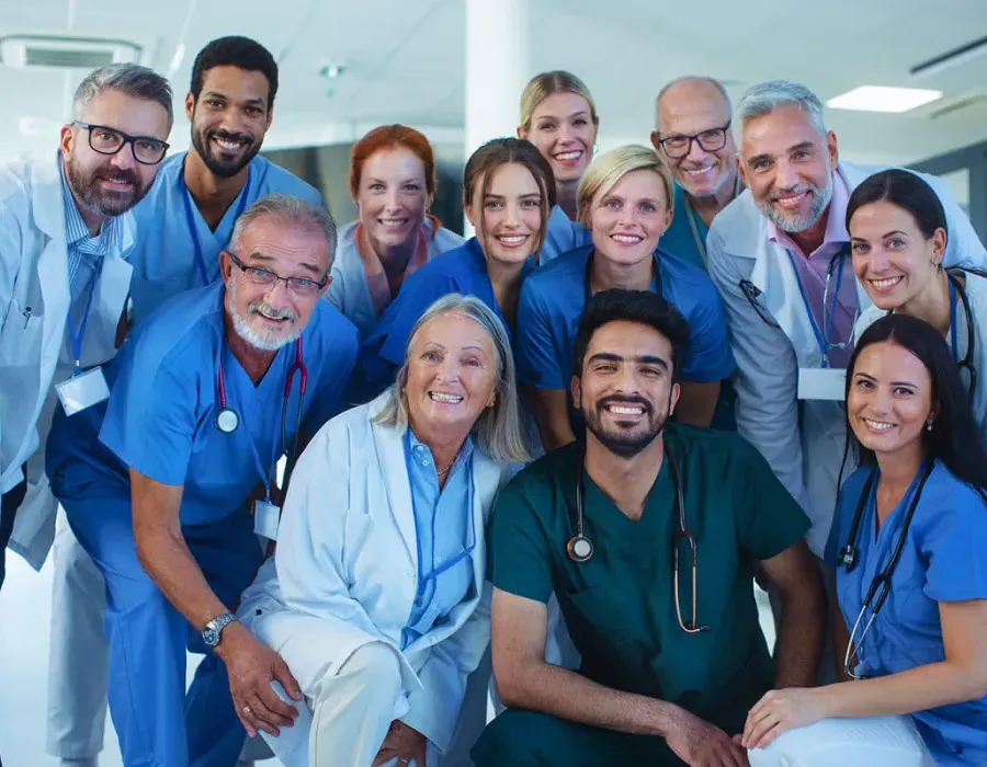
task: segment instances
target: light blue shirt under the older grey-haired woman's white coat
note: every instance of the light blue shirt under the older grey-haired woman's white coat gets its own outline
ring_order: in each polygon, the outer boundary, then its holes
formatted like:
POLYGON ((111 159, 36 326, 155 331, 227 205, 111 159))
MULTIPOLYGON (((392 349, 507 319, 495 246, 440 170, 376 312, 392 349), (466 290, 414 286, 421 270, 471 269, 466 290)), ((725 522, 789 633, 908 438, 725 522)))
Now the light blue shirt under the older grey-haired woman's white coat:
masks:
MULTIPOLYGON (((439 468, 432 451, 408 428, 405 463, 411 484, 418 543, 418 589, 401 649, 423 637, 463 599, 473 586, 473 440, 460 449, 445 486, 439 489, 439 468)), ((445 467, 441 467, 445 468, 445 467)))

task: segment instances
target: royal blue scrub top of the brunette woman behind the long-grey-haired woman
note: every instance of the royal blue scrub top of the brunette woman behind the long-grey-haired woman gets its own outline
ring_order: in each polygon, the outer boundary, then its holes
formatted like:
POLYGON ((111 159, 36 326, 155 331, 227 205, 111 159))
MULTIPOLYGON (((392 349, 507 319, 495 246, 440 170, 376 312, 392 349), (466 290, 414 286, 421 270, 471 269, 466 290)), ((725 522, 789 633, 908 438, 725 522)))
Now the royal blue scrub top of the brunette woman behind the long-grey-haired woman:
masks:
POLYGON ((510 327, 494 296, 484 252, 473 237, 466 244, 443 253, 410 274, 398 297, 361 345, 360 375, 367 387, 364 394, 367 399, 373 399, 394 382, 405 362, 405 347, 415 323, 432 304, 451 293, 480 299, 494 310, 510 335, 510 327))

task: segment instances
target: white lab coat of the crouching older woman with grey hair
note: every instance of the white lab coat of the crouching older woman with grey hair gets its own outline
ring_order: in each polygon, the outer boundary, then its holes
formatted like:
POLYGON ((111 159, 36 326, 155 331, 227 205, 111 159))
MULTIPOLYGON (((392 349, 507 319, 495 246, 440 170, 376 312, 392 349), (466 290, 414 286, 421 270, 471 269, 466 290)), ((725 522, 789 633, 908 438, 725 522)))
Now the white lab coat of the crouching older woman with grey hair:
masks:
MULTIPOLYGON (((404 435, 372 423, 387 396, 337 416, 305 449, 292 476, 277 553, 243 593, 238 617, 282 654, 309 697, 324 675, 336 673, 362 645, 381 641, 395 648, 405 695, 393 718, 446 752, 466 677, 489 644, 491 587, 486 583, 484 530, 511 467, 474 450, 473 597, 401 651, 401 630, 418 586, 418 549, 404 435), (299 636, 305 641, 292 641, 299 636)), ((460 723, 472 735, 460 746, 457 732, 455 751, 468 749, 485 724, 484 714, 479 712, 478 722, 460 723)), ((299 730, 283 731, 277 740, 285 743, 269 741, 280 758, 286 752, 307 757, 308 734, 299 730)))

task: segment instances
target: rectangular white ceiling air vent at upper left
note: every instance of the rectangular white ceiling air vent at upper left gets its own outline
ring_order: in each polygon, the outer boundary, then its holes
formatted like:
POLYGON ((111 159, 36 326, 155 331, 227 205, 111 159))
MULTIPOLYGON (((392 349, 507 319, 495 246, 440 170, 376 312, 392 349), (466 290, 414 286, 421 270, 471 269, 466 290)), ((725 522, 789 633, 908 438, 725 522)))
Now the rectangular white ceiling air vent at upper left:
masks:
POLYGON ((0 37, 0 62, 7 67, 95 69, 107 64, 139 61, 143 48, 122 39, 9 35, 0 37))

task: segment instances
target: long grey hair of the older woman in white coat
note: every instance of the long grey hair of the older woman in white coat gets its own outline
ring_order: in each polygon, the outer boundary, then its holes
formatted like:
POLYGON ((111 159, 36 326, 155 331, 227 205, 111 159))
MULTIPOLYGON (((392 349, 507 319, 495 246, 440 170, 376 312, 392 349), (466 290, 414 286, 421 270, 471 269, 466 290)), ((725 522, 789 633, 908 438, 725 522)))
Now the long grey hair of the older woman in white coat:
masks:
POLYGON ((374 423, 390 426, 404 433, 408 428, 408 358, 415 347, 419 331, 432 320, 443 314, 456 313, 476 322, 494 344, 497 363, 497 385, 494 407, 487 408, 473 425, 473 439, 477 447, 492 460, 501 463, 526 461, 527 450, 521 432, 521 405, 518 400, 518 385, 514 379, 514 357, 511 342, 497 314, 481 300, 473 296, 451 293, 430 306, 408 336, 405 347, 405 364, 398 370, 397 379, 387 393, 387 401, 374 423))

